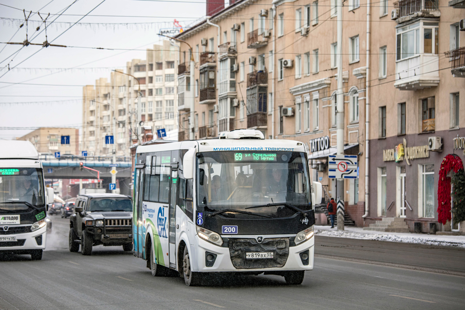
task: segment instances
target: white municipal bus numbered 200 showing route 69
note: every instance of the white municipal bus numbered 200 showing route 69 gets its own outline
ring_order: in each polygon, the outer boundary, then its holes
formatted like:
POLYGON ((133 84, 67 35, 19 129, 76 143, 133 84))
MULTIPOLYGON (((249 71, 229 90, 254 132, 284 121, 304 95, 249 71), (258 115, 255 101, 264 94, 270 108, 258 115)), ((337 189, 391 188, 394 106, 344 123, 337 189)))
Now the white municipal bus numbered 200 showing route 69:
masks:
POLYGON ((235 130, 139 146, 134 182, 134 255, 153 276, 177 271, 193 286, 208 272, 264 272, 301 284, 313 269, 321 184, 298 141, 235 130))

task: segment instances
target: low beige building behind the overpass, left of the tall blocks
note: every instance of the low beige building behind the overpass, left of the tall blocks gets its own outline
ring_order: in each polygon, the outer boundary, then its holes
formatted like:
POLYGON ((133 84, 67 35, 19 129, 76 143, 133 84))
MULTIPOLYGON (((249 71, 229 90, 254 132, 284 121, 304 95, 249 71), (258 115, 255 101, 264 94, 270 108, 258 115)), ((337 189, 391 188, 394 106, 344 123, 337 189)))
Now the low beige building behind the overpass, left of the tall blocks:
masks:
POLYGON ((79 154, 79 129, 76 128, 41 127, 16 139, 31 141, 40 153, 79 154), (67 138, 63 141, 65 144, 61 144, 61 136, 69 136, 69 144, 66 144, 67 138))

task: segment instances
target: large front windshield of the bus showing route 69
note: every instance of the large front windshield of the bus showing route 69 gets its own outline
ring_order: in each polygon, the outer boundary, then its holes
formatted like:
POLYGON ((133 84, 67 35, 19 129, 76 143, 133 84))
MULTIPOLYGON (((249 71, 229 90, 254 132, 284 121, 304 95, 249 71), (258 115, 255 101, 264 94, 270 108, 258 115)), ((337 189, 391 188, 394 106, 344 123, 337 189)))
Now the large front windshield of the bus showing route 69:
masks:
POLYGON ((234 209, 221 216, 273 218, 292 216, 285 205, 312 209, 308 168, 303 152, 201 152, 197 154, 197 205, 200 211, 234 209))

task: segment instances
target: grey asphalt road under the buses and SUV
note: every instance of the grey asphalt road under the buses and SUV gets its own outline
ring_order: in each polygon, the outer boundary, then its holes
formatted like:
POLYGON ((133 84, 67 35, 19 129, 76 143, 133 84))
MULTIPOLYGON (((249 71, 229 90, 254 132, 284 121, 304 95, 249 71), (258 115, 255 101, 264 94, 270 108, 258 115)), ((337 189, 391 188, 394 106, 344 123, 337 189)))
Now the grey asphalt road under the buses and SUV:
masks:
POLYGON ((71 253, 68 227, 67 219, 53 217, 53 233, 47 238, 41 261, 31 261, 27 255, 0 257, 0 309, 465 307, 465 277, 328 258, 420 265, 438 259, 436 267, 448 269, 455 265, 448 260, 465 263, 463 251, 457 249, 317 236, 314 270, 306 272, 301 285, 286 285, 283 277, 260 275, 221 277, 190 288, 179 277, 152 277, 145 262, 122 247, 97 246, 92 256, 71 253))

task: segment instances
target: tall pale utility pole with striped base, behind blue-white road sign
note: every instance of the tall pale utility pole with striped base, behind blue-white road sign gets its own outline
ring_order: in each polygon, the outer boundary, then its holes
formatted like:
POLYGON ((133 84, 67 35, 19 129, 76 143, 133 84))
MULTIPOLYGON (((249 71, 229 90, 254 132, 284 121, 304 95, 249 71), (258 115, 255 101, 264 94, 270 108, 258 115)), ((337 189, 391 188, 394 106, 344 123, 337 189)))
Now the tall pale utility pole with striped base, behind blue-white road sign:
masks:
MULTIPOLYGON (((338 92, 337 92, 337 155, 344 155, 344 90, 342 88, 342 0, 337 0, 338 28, 338 92)), ((337 179, 336 201, 338 231, 344 230, 344 179, 337 179)))

